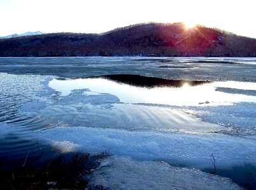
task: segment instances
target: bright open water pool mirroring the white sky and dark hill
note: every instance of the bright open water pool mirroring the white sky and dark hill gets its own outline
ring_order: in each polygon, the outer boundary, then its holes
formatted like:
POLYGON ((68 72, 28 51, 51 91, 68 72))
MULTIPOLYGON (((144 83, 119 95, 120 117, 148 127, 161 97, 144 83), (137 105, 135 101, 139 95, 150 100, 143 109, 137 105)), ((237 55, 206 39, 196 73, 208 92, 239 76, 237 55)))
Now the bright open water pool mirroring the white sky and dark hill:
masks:
POLYGON ((255 96, 216 91, 217 87, 255 91, 250 82, 202 82, 165 80, 138 75, 111 75, 98 78, 57 80, 49 83, 52 89, 67 96, 74 89, 88 89, 94 93, 117 96, 123 103, 146 103, 173 106, 232 105, 238 102, 256 103, 255 96), (130 77, 130 79, 129 79, 130 77))

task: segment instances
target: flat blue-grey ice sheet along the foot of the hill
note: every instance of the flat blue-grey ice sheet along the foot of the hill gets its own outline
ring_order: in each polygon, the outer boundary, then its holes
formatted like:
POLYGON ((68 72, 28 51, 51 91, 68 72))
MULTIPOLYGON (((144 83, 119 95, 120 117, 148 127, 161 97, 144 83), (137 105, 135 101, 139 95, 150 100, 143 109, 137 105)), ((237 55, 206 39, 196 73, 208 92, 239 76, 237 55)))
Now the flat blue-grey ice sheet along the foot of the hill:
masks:
POLYGON ((166 57, 0 58, 0 70, 17 75, 57 75, 76 78, 136 73, 173 80, 256 82, 255 60, 255 58, 166 57), (159 66, 187 66, 189 68, 159 68, 159 66))

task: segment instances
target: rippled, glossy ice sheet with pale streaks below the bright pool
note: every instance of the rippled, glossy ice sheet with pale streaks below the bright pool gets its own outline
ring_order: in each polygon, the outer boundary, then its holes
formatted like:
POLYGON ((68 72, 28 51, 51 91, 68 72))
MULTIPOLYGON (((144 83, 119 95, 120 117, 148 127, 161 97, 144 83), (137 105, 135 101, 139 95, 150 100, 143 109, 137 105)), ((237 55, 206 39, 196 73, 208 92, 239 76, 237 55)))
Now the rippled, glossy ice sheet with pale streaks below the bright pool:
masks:
MULTIPOLYGON (((114 103, 110 104, 111 95, 106 94, 93 98, 84 97, 78 105, 69 105, 69 101, 59 100, 60 105, 52 105, 38 111, 41 119, 53 127, 60 125, 57 121, 70 127, 101 127, 104 129, 127 130, 159 130, 191 132, 218 132, 229 129, 217 124, 202 122, 199 118, 187 115, 183 111, 162 108, 159 106, 144 106, 114 103), (107 99, 105 99, 107 97, 107 99), (92 101, 93 99, 93 101, 92 101), (86 102, 86 104, 83 104, 86 102), (105 104, 102 104, 105 103, 105 104), (58 124, 58 125, 57 125, 58 124)), ((72 103, 79 98, 74 96, 72 103)), ((69 99, 69 98, 68 98, 69 99)))

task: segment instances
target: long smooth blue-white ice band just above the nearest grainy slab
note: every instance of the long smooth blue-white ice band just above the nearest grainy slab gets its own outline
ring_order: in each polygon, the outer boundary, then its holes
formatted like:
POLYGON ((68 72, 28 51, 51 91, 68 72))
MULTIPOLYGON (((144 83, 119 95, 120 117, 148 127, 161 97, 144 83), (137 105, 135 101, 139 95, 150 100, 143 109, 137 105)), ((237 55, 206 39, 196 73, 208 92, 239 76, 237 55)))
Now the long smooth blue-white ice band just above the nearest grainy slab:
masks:
POLYGON ((201 169, 212 168, 212 153, 217 168, 256 164, 255 139, 222 134, 191 135, 179 132, 56 127, 37 131, 34 135, 42 143, 51 143, 55 148, 59 148, 56 142, 70 142, 88 152, 100 153, 111 149, 113 155, 130 156, 137 160, 165 160, 175 165, 201 169))

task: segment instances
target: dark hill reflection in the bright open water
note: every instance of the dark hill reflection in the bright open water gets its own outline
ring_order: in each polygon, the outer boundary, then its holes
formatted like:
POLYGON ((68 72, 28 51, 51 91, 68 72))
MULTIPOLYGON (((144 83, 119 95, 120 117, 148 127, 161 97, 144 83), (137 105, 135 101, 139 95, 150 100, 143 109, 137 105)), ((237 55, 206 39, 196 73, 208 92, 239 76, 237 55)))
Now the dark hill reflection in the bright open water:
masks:
POLYGON ((115 82, 129 84, 137 87, 182 87, 184 84, 191 86, 210 83, 210 81, 190 80, 168 80, 156 77, 145 77, 141 75, 103 75, 101 78, 115 82))

